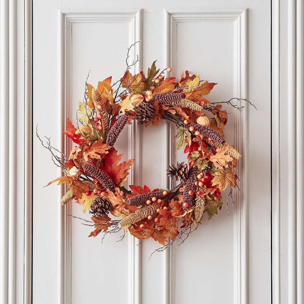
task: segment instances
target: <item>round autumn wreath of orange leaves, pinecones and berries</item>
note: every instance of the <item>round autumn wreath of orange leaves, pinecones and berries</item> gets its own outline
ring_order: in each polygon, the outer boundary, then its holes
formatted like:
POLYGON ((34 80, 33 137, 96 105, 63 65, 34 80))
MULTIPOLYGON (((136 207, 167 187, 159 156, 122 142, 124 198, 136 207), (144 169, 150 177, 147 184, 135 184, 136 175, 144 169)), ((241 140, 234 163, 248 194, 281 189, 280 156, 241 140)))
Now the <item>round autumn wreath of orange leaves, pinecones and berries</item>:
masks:
MULTIPOLYGON (((221 103, 211 103, 203 96, 216 83, 200 81, 199 75, 183 72, 181 79, 165 77, 155 61, 147 74, 141 70, 132 75, 127 64, 123 77, 111 85, 112 78, 98 82, 97 88, 86 83, 85 100, 79 102, 77 127, 67 120, 64 133, 75 143, 70 154, 53 160, 64 172, 49 184, 66 183, 69 190, 61 199, 65 205, 72 199, 89 209, 92 226, 90 236, 101 231, 129 230, 139 238, 152 237, 165 245, 188 234, 192 224, 198 225, 204 213, 209 219, 223 205, 221 191, 237 185, 236 160, 241 157, 234 146, 226 143, 223 130, 227 112, 221 103), (205 116, 212 113, 213 118, 205 116), (168 175, 180 183, 173 189, 150 190, 146 185, 124 187, 134 159, 119 163, 123 154, 114 148, 127 124, 158 125, 160 119, 174 123, 176 149, 184 148, 188 164, 172 164, 168 175), (110 217, 109 215, 112 215, 110 217), (122 219, 115 219, 122 217, 122 219)), ((50 150, 50 145, 47 146, 50 150)), ((49 185, 48 184, 48 185, 49 185)), ((227 202, 228 204, 228 202, 227 202)), ((195 228, 195 226, 194 226, 195 228)))

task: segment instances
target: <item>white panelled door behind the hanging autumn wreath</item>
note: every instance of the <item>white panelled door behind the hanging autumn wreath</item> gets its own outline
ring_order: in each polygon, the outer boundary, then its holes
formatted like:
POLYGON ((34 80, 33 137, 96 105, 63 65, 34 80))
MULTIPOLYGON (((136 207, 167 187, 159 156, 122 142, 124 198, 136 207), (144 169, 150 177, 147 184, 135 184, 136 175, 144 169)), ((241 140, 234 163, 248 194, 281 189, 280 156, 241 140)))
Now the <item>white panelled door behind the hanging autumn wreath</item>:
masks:
MULTIPOLYGON (((154 240, 138 245, 130 234, 110 234, 102 243, 102 233, 88 238, 94 227, 67 216, 90 219, 73 201, 60 205, 61 186, 43 188, 61 172, 34 138, 33 303, 270 303, 270 30, 271 2, 262 0, 33 1, 33 125, 58 149, 71 147, 62 130, 67 117, 75 122, 88 72, 92 85, 119 80, 136 41, 133 73, 157 60, 177 78, 189 70, 218 83, 212 102, 248 98, 258 109, 225 105, 226 138, 243 155, 230 219, 224 204, 184 244, 149 262, 154 240)), ((130 130, 116 149, 136 159, 131 183, 170 186, 166 169, 183 160, 173 153, 173 127, 130 130)))

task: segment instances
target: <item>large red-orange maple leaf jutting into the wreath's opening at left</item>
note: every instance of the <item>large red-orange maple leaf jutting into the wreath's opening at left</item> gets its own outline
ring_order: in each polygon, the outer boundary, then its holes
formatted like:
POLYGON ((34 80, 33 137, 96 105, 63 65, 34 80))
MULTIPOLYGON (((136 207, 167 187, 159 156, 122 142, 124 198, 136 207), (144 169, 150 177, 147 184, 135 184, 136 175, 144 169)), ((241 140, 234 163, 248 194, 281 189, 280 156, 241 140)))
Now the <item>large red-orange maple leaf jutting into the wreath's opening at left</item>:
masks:
POLYGON ((99 166, 99 169, 108 174, 109 178, 111 178, 116 185, 118 185, 121 181, 126 180, 126 177, 129 175, 129 173, 126 171, 130 169, 134 162, 134 159, 129 159, 127 161, 123 161, 121 164, 118 164, 122 157, 123 154, 117 155, 117 150, 112 147, 108 154, 102 156, 105 167, 102 166, 102 164, 99 166))

